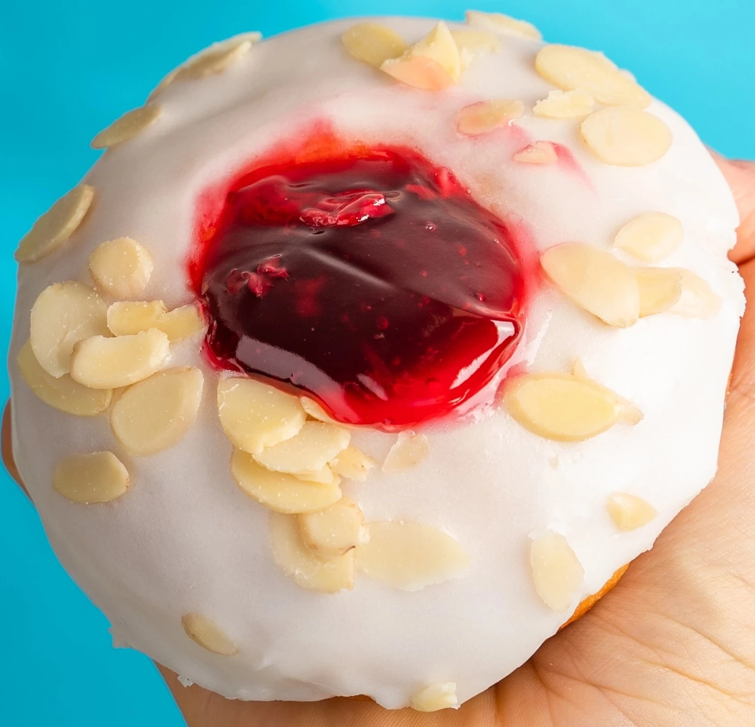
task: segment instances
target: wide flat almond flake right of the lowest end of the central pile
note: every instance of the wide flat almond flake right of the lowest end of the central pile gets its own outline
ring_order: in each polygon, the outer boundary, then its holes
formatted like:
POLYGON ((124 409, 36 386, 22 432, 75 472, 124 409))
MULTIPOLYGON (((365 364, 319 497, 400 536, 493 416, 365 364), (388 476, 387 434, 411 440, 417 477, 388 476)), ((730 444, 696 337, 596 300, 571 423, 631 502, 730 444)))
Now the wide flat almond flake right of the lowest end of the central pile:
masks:
POLYGON ((356 567, 399 590, 421 590, 460 578, 469 565, 469 554, 456 538, 419 522, 372 522, 369 541, 356 547, 356 567))

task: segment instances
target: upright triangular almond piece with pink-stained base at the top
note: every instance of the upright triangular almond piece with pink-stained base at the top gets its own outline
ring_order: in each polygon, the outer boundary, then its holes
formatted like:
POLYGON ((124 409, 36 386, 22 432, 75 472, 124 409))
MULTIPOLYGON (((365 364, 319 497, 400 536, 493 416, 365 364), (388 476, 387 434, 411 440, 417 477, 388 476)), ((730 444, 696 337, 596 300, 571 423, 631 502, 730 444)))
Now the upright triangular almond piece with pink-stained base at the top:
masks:
POLYGON ((461 57, 448 26, 441 21, 427 38, 398 58, 386 60, 380 68, 408 86, 439 91, 459 82, 461 57))

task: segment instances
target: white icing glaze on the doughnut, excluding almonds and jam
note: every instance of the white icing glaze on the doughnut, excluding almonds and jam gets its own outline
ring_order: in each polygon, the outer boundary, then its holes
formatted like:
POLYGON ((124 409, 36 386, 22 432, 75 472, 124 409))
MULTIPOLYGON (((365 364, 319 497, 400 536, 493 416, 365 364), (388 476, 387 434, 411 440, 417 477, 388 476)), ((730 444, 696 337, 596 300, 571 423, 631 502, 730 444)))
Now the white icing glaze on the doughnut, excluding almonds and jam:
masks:
MULTIPOLYGON (((414 42, 430 20, 387 19, 414 42)), ((61 562, 105 612, 119 641, 231 698, 316 700, 366 694, 403 707, 434 682, 456 682, 460 701, 522 664, 565 621, 535 593, 529 543, 546 529, 564 534, 585 571, 573 605, 651 547, 667 522, 713 477, 741 279, 726 251, 738 216, 720 172, 691 128, 654 101, 649 111, 673 131, 670 152, 648 168, 603 165, 579 140, 578 121, 532 116, 516 122, 530 140, 572 150, 589 183, 557 166, 517 165, 529 143, 497 132, 458 137, 461 106, 510 97, 528 109, 553 87, 534 69, 541 44, 501 36, 501 53, 478 57, 461 85, 414 91, 347 56, 326 23, 262 42, 220 75, 180 81, 159 96, 160 118, 139 137, 106 152, 86 181, 97 190, 85 224, 60 251, 19 275, 11 345, 14 452, 20 473, 61 562), (358 576, 336 596, 297 587, 273 563, 269 512, 233 483, 231 445, 214 404, 217 373, 195 337, 171 348, 171 365, 205 372, 197 424, 173 448, 128 457, 106 417, 81 419, 37 399, 15 358, 29 336, 29 310, 42 289, 88 281, 86 261, 103 240, 137 239, 155 261, 146 299, 186 303, 184 261, 194 204, 282 137, 314 119, 348 137, 418 146, 453 169, 483 205, 531 226, 542 250, 566 240, 606 247, 647 211, 682 220, 686 236, 664 264, 695 271, 723 298, 714 318, 660 315, 609 328, 544 288, 529 312, 514 362, 532 371, 569 369, 581 358, 591 377, 644 412, 586 442, 541 439, 507 414, 476 408, 466 424, 423 432, 430 454, 415 470, 344 484, 369 520, 406 518, 442 528, 469 551, 466 578, 405 593, 358 576), (57 461, 111 449, 131 473, 115 503, 86 507, 51 488, 57 461), (620 533, 606 512, 613 491, 646 499, 658 518, 620 533), (186 637, 181 615, 200 612, 239 645, 211 654, 186 637)), ((452 25, 455 27, 455 25, 452 25)), ((636 264, 630 258, 627 262, 636 264)), ((479 399, 490 399, 489 390, 479 399)), ((477 402, 479 403, 479 402, 477 402)), ((382 461, 395 436, 359 430, 353 442, 382 461)))

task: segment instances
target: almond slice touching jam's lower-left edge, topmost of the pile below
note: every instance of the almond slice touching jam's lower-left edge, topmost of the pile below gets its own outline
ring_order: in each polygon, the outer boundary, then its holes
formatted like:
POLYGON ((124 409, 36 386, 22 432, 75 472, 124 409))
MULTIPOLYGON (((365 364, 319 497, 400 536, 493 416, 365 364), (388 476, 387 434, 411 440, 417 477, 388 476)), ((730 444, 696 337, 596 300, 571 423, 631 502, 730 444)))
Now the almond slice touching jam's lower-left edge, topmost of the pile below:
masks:
POLYGON ((291 439, 307 420, 296 396, 256 379, 235 376, 220 378, 217 412, 233 446, 250 454, 291 439))

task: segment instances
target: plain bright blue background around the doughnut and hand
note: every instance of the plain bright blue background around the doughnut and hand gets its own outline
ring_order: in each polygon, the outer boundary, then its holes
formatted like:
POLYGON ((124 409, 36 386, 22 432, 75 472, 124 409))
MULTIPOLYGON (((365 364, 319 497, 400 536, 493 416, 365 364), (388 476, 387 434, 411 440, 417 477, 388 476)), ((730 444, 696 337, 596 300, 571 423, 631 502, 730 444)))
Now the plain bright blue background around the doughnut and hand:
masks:
MULTIPOLYGON (((710 146, 755 157, 753 0, 477 2, 535 23, 550 41, 606 51, 680 111, 710 146)), ((363 14, 359 2, 0 0, 0 348, 14 301, 11 253, 35 217, 97 158, 97 131, 143 103, 168 70, 245 30, 363 14)), ((385 0, 380 14, 461 19, 466 3, 385 0)), ((0 401, 8 383, 0 378, 0 401)), ((0 723, 183 721, 153 664, 111 647, 108 624, 69 580, 32 506, 0 474, 0 723)))

